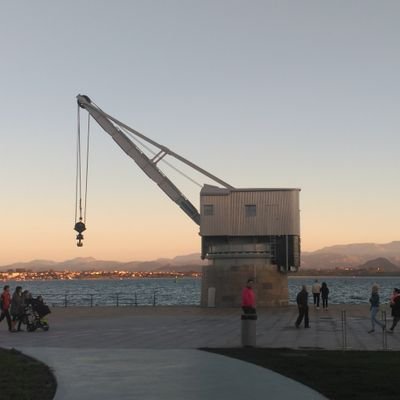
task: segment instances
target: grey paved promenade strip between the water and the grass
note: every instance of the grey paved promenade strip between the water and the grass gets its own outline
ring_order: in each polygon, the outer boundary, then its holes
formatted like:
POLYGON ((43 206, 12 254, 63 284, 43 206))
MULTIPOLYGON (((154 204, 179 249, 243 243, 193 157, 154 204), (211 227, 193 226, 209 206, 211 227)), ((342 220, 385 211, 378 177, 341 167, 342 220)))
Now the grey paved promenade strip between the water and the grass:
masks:
MULTIPOLYGON (((381 350, 382 334, 370 329, 368 305, 310 306, 311 329, 296 329, 295 306, 258 310, 257 346, 294 349, 343 347, 342 310, 346 310, 347 347, 381 350)), ((382 310, 385 310, 382 307, 382 310)), ((386 310, 391 321, 390 311, 386 310)), ((240 310, 200 307, 52 308, 49 332, 10 334, 0 325, 0 340, 11 346, 196 349, 240 346, 240 310), (3 329, 1 329, 3 328, 3 329)), ((387 334, 388 349, 400 350, 400 325, 387 334)))

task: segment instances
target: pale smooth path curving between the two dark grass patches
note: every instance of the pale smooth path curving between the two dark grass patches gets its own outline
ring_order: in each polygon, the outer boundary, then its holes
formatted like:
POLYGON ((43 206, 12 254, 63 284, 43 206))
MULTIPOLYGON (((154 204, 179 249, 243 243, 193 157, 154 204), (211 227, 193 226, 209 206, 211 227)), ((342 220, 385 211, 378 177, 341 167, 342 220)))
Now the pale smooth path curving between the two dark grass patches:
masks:
POLYGON ((51 366, 55 400, 323 400, 255 365, 199 350, 21 347, 51 366))

